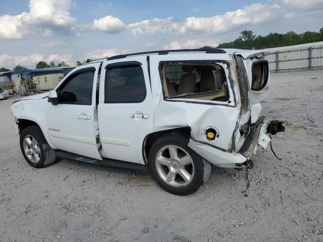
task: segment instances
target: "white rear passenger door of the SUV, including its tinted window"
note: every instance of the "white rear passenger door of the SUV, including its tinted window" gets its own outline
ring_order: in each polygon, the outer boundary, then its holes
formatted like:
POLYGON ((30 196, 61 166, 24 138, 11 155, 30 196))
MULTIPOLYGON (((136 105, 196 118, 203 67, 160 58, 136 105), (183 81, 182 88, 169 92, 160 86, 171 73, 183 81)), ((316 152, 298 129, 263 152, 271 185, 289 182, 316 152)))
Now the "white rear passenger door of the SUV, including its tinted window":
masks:
POLYGON ((98 104, 100 152, 107 158, 144 164, 143 141, 152 133, 152 96, 146 56, 133 59, 118 59, 102 66, 98 104))

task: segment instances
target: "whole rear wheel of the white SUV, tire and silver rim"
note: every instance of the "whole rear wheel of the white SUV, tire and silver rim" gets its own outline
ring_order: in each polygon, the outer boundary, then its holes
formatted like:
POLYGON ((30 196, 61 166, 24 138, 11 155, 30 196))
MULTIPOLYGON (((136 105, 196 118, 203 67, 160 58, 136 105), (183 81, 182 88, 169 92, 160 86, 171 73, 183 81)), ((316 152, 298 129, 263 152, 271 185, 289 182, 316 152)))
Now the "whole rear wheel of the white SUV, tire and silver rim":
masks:
POLYGON ((151 146, 149 170, 157 184, 175 195, 189 195, 207 180, 211 164, 187 146, 184 137, 165 135, 151 146))

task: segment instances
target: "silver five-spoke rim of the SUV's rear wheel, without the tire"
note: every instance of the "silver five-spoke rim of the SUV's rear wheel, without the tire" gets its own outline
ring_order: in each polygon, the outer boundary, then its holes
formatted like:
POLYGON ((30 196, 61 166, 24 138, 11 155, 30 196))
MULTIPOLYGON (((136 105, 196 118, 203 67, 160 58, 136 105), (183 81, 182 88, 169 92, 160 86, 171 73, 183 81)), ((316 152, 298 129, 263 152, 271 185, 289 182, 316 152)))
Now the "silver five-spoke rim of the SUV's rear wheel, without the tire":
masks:
POLYGON ((192 158, 178 146, 167 145, 161 148, 155 162, 159 176, 173 187, 185 187, 194 177, 192 158))

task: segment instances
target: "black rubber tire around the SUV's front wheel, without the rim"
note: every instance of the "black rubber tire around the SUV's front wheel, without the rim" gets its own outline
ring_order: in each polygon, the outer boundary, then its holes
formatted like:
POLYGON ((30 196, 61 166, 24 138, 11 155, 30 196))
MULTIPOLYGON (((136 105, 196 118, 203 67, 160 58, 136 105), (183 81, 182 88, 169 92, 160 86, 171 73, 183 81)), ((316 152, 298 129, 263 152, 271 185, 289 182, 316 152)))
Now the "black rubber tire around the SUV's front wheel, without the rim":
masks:
POLYGON ((24 129, 21 134, 20 134, 20 148, 21 148, 21 152, 23 154, 23 156, 25 157, 26 161, 33 167, 36 168, 43 168, 46 167, 48 165, 51 165, 52 163, 55 162, 56 160, 56 153, 55 150, 50 148, 50 146, 48 145, 44 135, 42 134, 41 129, 38 126, 30 126, 27 127, 26 129, 24 129), (24 150, 24 146, 23 146, 23 142, 24 139, 27 136, 32 136, 33 138, 36 139, 39 148, 40 148, 40 160, 38 162, 32 162, 25 150, 24 150))

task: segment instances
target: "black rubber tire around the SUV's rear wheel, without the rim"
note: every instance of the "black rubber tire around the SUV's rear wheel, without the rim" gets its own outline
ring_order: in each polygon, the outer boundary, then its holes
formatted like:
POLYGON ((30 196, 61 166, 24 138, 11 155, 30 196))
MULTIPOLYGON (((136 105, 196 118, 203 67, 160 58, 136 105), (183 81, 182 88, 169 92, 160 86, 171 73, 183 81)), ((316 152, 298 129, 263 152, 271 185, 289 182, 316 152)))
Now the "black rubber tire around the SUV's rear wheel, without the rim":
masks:
POLYGON ((211 171, 211 164, 196 154, 187 146, 184 137, 177 135, 165 135, 158 138, 151 146, 148 156, 148 166, 150 173, 156 180, 157 184, 169 193, 185 196, 196 192, 201 185, 203 185, 209 177, 211 171), (183 187, 174 187, 168 184, 158 173, 156 168, 156 155, 165 146, 177 146, 184 150, 192 159, 194 164, 194 176, 190 183, 183 187))

